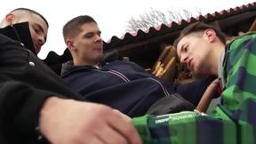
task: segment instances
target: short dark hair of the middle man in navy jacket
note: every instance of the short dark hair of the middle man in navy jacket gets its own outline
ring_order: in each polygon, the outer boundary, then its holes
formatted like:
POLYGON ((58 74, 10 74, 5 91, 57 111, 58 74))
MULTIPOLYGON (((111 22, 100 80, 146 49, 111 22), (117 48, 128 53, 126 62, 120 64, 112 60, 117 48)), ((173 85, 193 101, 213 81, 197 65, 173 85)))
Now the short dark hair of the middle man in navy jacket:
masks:
POLYGON ((91 22, 97 24, 97 22, 89 15, 80 15, 72 20, 69 20, 63 27, 64 40, 66 40, 68 36, 78 35, 78 33, 80 32, 80 26, 82 26, 84 23, 91 22))

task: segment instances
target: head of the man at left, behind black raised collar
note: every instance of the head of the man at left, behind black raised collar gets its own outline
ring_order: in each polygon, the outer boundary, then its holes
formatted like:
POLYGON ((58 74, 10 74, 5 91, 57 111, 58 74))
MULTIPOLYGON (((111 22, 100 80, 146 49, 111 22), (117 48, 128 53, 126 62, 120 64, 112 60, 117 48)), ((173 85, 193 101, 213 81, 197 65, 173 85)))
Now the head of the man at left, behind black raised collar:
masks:
POLYGON ((14 38, 18 39, 19 41, 22 39, 22 43, 28 45, 28 49, 31 52, 38 54, 38 52, 41 50, 41 46, 46 42, 49 27, 47 20, 45 20, 40 13, 25 8, 15 9, 12 12, 6 14, 4 20, 2 20, 0 24, 0 28, 13 26, 14 24, 27 21, 30 34, 24 33, 26 32, 26 27, 12 27, 13 31, 15 32, 14 38), (28 36, 31 36, 32 42, 30 42, 28 38, 25 39, 28 36))

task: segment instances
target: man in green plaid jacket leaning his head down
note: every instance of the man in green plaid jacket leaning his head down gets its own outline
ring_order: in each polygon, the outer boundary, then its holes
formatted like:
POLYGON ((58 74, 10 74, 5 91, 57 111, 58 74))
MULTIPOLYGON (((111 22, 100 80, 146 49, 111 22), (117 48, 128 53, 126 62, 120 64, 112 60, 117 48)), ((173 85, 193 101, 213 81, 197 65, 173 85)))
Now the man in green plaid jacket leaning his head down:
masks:
POLYGON ((133 118, 145 144, 256 143, 256 33, 226 44, 211 25, 196 22, 174 42, 180 62, 195 75, 219 77, 221 102, 210 115, 183 111, 133 118))

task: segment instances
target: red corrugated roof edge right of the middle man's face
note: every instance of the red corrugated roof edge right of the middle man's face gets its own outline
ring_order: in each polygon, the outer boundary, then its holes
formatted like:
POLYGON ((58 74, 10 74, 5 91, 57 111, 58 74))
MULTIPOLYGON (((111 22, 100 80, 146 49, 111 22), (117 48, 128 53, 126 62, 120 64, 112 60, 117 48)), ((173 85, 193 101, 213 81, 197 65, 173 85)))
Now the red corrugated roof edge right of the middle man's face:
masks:
POLYGON ((156 35, 159 36, 161 34, 170 33, 172 31, 175 31, 180 28, 185 28, 186 26, 188 26, 189 23, 193 23, 198 20, 204 21, 204 22, 220 20, 220 19, 232 16, 232 15, 236 15, 238 13, 254 10, 255 8, 256 8, 256 2, 254 2, 252 4, 242 5, 239 7, 237 6, 235 8, 230 8, 230 9, 228 9, 228 11, 223 10, 221 12, 213 12, 212 14, 207 13, 205 15, 199 15, 196 18, 194 18, 194 17, 190 18, 188 20, 180 20, 179 22, 171 22, 167 25, 162 24, 156 28, 154 28, 154 27, 148 28, 145 31, 140 29, 137 32, 134 32, 132 34, 126 33, 126 34, 124 34, 124 36, 121 36, 120 38, 118 38, 116 36, 112 36, 108 40, 108 42, 105 44, 105 47, 107 47, 107 49, 108 49, 108 48, 113 48, 116 46, 121 46, 124 44, 129 44, 131 42, 137 42, 137 41, 140 41, 141 39, 149 38, 151 36, 156 36, 156 35))

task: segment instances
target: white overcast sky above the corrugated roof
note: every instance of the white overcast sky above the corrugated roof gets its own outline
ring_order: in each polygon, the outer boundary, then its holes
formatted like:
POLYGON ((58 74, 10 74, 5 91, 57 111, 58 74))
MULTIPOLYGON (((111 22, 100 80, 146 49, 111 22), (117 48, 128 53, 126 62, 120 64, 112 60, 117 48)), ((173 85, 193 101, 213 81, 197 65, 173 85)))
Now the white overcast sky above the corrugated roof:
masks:
POLYGON ((203 14, 220 12, 255 0, 0 0, 0 20, 15 8, 25 7, 44 15, 49 22, 47 42, 38 57, 45 59, 48 52, 61 55, 66 49, 62 28, 68 20, 79 15, 90 15, 97 21, 102 39, 121 37, 126 32, 127 21, 149 12, 151 8, 167 12, 199 9, 203 14))

